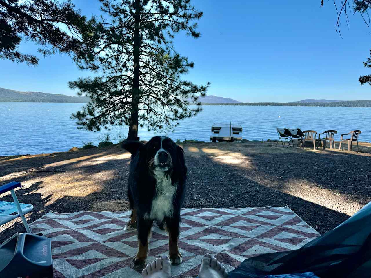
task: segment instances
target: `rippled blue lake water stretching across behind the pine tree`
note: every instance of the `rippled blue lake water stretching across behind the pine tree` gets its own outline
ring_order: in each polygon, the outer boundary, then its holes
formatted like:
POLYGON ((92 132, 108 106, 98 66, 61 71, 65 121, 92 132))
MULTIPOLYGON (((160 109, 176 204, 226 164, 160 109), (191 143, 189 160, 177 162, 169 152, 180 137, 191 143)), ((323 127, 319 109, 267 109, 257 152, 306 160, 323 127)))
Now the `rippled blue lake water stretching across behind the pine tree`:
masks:
MULTIPOLYGON (((76 128, 69 119, 82 103, 0 102, 0 156, 67 151, 81 147, 83 141, 98 145, 99 133, 76 128)), ((359 129, 360 141, 371 142, 371 108, 367 107, 306 107, 306 106, 204 106, 196 117, 184 120, 173 140, 197 139, 209 142, 213 123, 237 122, 243 127, 243 138, 276 139, 277 127, 301 128, 323 132, 335 129, 341 133, 359 129), (279 117, 280 116, 280 117, 279 117)), ((111 131, 127 135, 127 128, 111 131)), ((154 134, 139 131, 141 140, 154 134)), ((112 140, 117 142, 117 140, 112 140)))

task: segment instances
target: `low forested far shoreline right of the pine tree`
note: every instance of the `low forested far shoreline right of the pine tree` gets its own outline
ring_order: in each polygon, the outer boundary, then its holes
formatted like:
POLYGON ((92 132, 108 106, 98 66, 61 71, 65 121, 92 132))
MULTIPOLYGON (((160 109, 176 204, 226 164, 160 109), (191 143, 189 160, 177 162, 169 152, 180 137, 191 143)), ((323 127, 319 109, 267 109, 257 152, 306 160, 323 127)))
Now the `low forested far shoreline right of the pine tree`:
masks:
POLYGON ((371 107, 371 100, 345 100, 345 101, 338 101, 338 102, 240 102, 240 103, 202 103, 202 105, 371 107))

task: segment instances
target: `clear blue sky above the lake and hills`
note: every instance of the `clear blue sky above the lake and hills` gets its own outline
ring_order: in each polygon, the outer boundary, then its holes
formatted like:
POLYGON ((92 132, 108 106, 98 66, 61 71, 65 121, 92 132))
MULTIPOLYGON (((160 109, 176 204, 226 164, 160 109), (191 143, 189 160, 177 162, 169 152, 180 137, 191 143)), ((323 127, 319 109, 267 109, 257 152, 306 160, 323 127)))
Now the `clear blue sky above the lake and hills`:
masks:
MULTIPOLYGON (((98 1, 73 3, 88 16, 98 13, 98 1)), ((174 45, 195 62, 184 78, 197 84, 211 82, 209 95, 243 102, 371 98, 371 87, 358 83, 359 75, 371 73, 362 64, 370 52, 371 29, 359 14, 349 14, 349 29, 342 20, 342 39, 335 32, 337 16, 331 1, 324 7, 321 0, 193 0, 193 4, 204 12, 201 37, 195 40, 180 33, 174 45)), ((39 55, 36 49, 32 43, 20 48, 39 55)), ((38 67, 0 60, 0 87, 7 89, 74 95, 67 82, 88 75, 66 55, 40 57, 38 67)))

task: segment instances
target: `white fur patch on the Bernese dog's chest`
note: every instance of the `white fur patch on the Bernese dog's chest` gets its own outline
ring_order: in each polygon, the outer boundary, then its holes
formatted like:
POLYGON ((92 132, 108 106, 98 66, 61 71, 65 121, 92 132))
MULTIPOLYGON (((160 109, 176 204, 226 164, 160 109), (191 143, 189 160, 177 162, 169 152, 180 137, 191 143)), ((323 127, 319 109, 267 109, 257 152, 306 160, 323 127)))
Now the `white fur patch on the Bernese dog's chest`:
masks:
POLYGON ((165 176, 164 171, 154 171, 156 178, 156 195, 152 201, 151 219, 162 221, 166 216, 173 215, 173 198, 177 186, 171 185, 171 177, 165 176))

